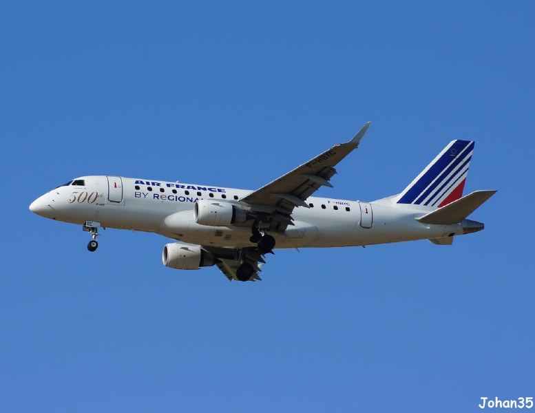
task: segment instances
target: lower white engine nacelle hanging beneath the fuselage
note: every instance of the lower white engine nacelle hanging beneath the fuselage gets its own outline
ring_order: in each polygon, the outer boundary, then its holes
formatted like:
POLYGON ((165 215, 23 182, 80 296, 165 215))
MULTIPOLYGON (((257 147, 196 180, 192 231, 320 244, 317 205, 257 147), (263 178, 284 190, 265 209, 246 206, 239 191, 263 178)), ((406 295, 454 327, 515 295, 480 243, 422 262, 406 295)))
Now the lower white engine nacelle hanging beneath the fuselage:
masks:
POLYGON ((176 242, 163 247, 162 262, 177 270, 198 270, 199 267, 216 264, 216 257, 198 246, 176 242))

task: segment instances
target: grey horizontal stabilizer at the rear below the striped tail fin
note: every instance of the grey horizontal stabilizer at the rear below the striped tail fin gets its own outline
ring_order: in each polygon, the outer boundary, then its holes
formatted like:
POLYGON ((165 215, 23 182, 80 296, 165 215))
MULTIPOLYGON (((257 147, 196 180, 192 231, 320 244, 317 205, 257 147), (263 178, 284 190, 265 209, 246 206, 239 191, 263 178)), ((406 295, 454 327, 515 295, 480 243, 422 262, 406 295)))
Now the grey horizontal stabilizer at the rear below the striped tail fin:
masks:
POLYGON ((478 209, 483 202, 494 195, 496 191, 475 191, 463 198, 445 205, 437 211, 432 211, 423 217, 416 218, 424 224, 459 224, 468 215, 478 209))

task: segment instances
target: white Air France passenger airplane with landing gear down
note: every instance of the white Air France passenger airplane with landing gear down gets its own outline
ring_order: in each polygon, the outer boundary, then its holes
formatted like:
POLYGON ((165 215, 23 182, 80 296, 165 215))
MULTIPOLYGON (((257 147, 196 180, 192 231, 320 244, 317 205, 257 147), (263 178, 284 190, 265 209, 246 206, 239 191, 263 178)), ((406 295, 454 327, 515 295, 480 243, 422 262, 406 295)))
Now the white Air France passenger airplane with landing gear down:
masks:
POLYGON ((370 122, 335 145, 255 191, 120 176, 82 176, 52 189, 30 211, 81 224, 98 247, 98 229, 158 233, 166 244, 162 262, 198 270, 218 266, 229 280, 260 280, 276 248, 367 246, 412 240, 450 245, 456 235, 484 224, 468 215, 496 191, 463 189, 474 141, 452 140, 398 193, 373 202, 317 198, 333 187, 335 166, 357 149, 370 122))

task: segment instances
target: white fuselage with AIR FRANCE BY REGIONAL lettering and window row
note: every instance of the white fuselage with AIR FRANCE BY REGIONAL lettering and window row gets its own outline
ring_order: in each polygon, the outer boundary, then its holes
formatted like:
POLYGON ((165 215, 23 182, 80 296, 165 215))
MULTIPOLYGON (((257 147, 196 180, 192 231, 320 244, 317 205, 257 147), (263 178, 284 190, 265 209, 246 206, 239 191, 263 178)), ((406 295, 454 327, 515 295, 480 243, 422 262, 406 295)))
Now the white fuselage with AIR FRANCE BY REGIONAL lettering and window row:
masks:
MULTIPOLYGON (((112 176, 86 176, 58 187, 35 200, 30 209, 54 220, 159 233, 191 244, 223 247, 253 246, 251 223, 205 226, 196 223, 197 200, 229 202, 251 191, 207 187, 182 182, 138 180, 112 176), (83 185, 76 185, 83 181, 83 185), (143 182, 143 183, 142 183, 143 182)), ((430 210, 395 204, 390 200, 359 202, 311 197, 310 208, 297 207, 293 226, 272 233, 275 248, 361 246, 461 234, 460 224, 422 224, 415 218, 430 210)))

